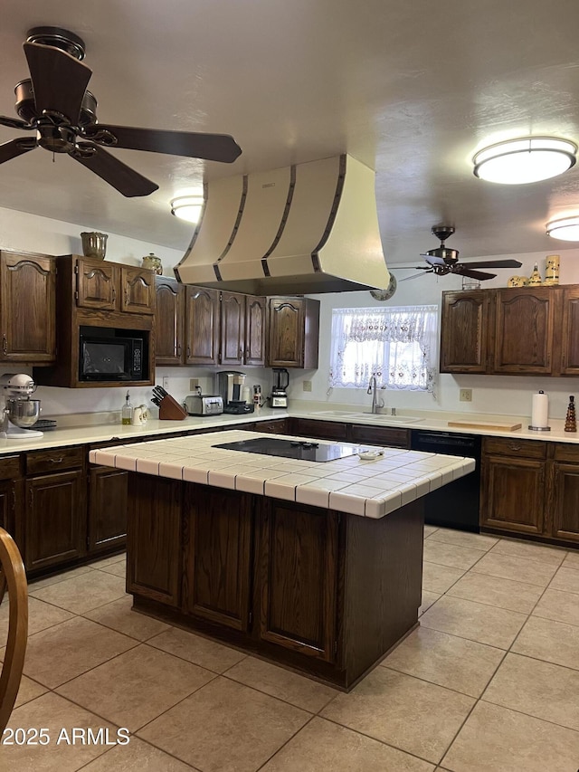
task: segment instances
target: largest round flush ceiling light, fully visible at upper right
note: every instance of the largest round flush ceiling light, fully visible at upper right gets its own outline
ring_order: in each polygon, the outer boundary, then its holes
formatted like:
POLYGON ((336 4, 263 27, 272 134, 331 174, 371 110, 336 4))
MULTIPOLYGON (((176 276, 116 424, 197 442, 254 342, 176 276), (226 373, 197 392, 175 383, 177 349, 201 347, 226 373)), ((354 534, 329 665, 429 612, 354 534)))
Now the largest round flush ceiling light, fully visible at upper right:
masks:
POLYGON ((483 148, 472 159, 480 179, 525 185, 563 174, 574 166, 577 146, 568 139, 525 137, 483 148))

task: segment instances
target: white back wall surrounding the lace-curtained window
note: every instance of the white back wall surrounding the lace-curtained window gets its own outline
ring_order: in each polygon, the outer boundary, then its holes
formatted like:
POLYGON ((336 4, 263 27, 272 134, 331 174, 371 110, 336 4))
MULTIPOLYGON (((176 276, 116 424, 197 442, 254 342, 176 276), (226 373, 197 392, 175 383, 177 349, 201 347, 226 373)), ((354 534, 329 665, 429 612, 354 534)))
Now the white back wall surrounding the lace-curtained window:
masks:
MULTIPOLYGON (((559 242, 563 243, 563 242, 559 242)), ((560 283, 579 283, 579 249, 560 249, 555 246, 552 253, 561 255, 560 283)), ((506 287, 509 276, 529 276, 535 262, 545 278, 546 253, 526 253, 519 255, 493 255, 489 259, 515 257, 523 263, 521 268, 497 269, 497 278, 482 282, 483 287, 506 287)), ((479 259, 479 258, 477 258, 479 259)), ((484 257, 480 258, 481 260, 484 257)), ((416 264, 420 264, 417 262, 416 264)), ((289 397, 294 399, 326 402, 332 404, 349 403, 369 405, 370 397, 365 389, 338 389, 327 394, 327 373, 329 368, 330 331, 332 310, 335 308, 371 308, 405 305, 435 304, 441 306, 441 293, 447 290, 460 290, 462 280, 458 276, 436 277, 433 274, 422 275, 410 281, 401 281, 413 275, 412 270, 391 268, 398 281, 398 287, 391 300, 386 303, 376 301, 368 291, 346 292, 327 295, 315 295, 321 301, 319 367, 317 371, 295 372, 291 375, 289 397), (303 381, 312 382, 311 392, 303 391, 303 381)), ((493 272, 489 269, 489 272, 493 272)), ((521 330, 521 335, 525 330, 521 330)), ((565 418, 569 395, 579 391, 575 378, 530 377, 530 376, 450 376, 439 377, 438 398, 435 401, 430 394, 411 391, 386 390, 381 393, 387 406, 418 410, 460 411, 462 413, 483 413, 498 415, 530 415, 531 396, 538 389, 549 395, 549 415, 552 418, 565 418), (472 389, 472 402, 459 401, 460 388, 472 389)))

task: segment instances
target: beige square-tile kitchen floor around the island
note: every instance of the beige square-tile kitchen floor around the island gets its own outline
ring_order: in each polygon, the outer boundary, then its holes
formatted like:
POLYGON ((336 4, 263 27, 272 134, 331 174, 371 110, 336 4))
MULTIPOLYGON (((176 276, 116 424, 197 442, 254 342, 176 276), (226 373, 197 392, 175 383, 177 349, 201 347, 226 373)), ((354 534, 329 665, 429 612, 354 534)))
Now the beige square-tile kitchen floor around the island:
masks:
POLYGON ((349 694, 131 611, 122 556, 33 583, 9 727, 49 741, 0 770, 577 772, 579 553, 427 527, 424 558, 420 627, 349 694))

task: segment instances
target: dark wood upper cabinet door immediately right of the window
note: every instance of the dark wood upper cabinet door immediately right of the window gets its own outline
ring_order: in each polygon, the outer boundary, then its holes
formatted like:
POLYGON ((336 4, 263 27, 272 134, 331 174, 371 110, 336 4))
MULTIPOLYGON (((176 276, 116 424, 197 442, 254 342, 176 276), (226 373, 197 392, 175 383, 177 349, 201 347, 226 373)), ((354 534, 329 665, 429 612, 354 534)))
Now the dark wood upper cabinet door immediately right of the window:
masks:
POLYGON ((441 373, 485 373, 491 292, 442 292, 441 373))

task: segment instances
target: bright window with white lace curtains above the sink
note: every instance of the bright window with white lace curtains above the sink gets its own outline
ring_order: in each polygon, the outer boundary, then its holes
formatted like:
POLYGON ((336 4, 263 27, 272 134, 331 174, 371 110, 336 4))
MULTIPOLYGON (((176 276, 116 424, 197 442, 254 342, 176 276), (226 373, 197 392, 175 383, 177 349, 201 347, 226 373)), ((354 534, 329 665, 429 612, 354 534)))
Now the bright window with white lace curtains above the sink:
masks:
POLYGON ((437 306, 334 309, 329 386, 434 393, 437 306))

